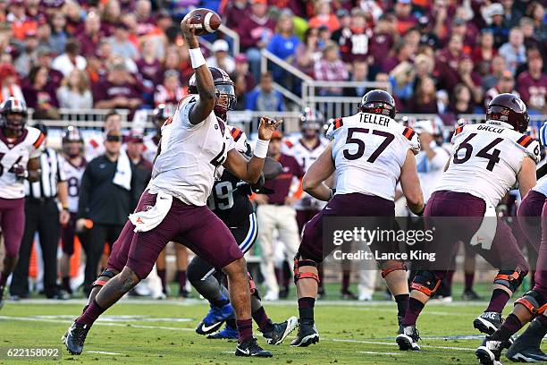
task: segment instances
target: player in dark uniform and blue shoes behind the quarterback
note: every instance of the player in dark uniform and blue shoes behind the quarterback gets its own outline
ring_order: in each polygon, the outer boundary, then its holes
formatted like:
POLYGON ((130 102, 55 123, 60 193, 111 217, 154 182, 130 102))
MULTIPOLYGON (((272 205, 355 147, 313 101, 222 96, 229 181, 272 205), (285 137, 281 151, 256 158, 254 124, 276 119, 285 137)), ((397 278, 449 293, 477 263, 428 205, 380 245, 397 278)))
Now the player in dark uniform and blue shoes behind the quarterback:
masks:
MULTIPOLYGON (((195 82, 189 81, 189 92, 195 93, 195 82)), ((225 116, 225 115, 224 115, 225 116)), ((245 132, 238 128, 227 125, 235 142, 235 148, 247 157, 252 156, 245 132)), ((282 173, 282 166, 271 158, 266 158, 271 167, 265 166, 274 174, 266 174, 265 178, 273 178, 282 173)), ((240 245, 243 253, 250 250, 257 239, 257 216, 249 195, 257 191, 257 185, 253 188, 248 183, 240 180, 227 170, 224 170, 220 180, 215 182, 213 191, 207 200, 208 207, 213 210, 216 216, 230 228, 231 233, 240 245)), ((199 323, 196 332, 199 335, 207 335, 207 338, 234 339, 237 338, 237 328, 233 318, 233 309, 228 298, 228 291, 223 283, 222 273, 215 275, 215 267, 212 267, 206 260, 195 257, 188 267, 188 278, 190 283, 198 290, 211 306, 206 317, 199 323), (215 334, 223 322, 226 327, 215 334), (208 335, 212 334, 212 335, 208 335)), ((287 335, 297 327, 297 318, 291 317, 282 323, 273 323, 266 315, 262 306, 260 294, 254 284, 253 278, 249 276, 251 290, 251 314, 258 329, 262 332, 268 344, 281 344, 287 335)))

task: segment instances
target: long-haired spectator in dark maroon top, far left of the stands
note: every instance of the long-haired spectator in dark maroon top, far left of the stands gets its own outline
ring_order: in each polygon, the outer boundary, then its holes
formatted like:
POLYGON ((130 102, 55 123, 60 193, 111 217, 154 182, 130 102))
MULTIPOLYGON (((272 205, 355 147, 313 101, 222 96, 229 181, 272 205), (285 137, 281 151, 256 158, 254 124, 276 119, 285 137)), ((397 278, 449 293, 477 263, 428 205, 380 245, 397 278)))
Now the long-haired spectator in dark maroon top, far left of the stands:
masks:
POLYGON ((30 69, 29 85, 23 87, 23 95, 27 106, 34 109, 35 118, 59 119, 59 101, 55 86, 47 81, 46 67, 34 66, 30 69))

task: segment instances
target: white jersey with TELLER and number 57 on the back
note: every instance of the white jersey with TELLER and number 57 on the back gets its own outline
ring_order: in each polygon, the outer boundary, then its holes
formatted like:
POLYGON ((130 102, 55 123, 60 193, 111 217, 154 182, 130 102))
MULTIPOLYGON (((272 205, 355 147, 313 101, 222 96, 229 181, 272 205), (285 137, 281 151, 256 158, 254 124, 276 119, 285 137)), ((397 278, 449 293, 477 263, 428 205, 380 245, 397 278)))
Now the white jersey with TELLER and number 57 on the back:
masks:
POLYGON ((327 138, 334 140, 336 194, 359 192, 393 200, 408 149, 415 155, 420 151, 417 132, 386 115, 336 119, 327 138))

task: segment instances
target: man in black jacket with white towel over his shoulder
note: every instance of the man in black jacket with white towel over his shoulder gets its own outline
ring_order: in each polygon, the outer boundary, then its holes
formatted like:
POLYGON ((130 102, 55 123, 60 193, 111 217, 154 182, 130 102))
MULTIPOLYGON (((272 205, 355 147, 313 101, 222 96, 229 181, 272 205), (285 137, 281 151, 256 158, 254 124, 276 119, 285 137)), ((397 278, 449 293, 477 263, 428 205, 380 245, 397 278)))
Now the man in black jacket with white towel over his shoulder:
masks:
POLYGON ((97 278, 97 268, 105 242, 112 245, 122 232, 130 214, 132 174, 129 157, 121 153, 122 133, 106 132, 105 154, 86 166, 81 178, 80 201, 76 227, 93 222, 86 241, 84 293, 89 295, 91 283, 97 278))

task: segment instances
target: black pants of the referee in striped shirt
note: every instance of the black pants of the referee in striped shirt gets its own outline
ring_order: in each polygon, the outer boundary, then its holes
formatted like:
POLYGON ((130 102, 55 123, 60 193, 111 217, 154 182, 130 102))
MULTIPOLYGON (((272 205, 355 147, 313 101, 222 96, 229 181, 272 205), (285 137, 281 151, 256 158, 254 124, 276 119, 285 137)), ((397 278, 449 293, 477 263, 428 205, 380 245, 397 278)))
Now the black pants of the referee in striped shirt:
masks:
POLYGON ((34 234, 38 231, 44 261, 44 291, 47 297, 57 292, 57 246, 61 225, 55 199, 25 201, 25 231, 19 249, 19 262, 13 271, 10 293, 29 293, 29 260, 34 234))

